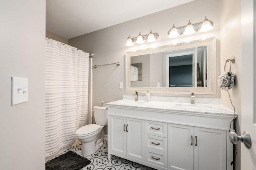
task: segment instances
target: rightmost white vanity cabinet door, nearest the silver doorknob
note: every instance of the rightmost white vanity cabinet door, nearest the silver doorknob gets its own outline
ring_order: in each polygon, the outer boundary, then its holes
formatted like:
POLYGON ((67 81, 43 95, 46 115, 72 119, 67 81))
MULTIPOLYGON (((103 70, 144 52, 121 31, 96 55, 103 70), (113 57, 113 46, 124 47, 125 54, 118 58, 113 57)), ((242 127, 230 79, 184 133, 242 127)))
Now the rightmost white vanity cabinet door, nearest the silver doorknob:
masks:
POLYGON ((194 127, 194 170, 226 169, 226 131, 194 127))

